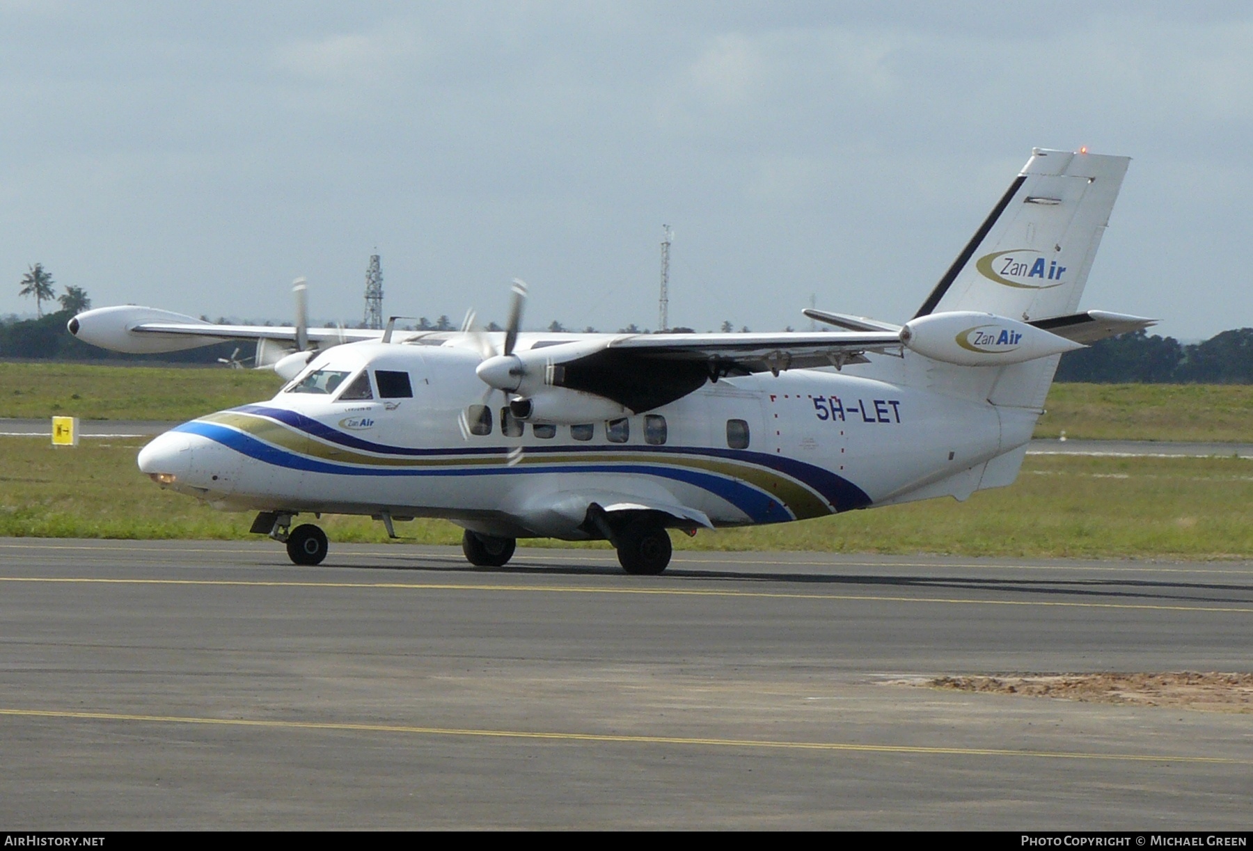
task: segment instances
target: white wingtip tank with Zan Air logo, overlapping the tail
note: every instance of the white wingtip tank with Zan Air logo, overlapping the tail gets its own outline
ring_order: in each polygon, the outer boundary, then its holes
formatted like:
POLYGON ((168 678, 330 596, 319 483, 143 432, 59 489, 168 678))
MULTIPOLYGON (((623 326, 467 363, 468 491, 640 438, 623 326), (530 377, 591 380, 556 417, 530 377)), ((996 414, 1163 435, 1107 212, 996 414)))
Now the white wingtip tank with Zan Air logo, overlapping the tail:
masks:
POLYGON ((960 366, 1002 366, 1083 348, 1026 322, 994 313, 954 311, 910 320, 901 328, 910 351, 960 366))

